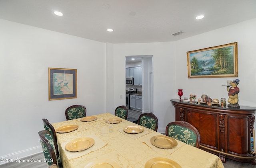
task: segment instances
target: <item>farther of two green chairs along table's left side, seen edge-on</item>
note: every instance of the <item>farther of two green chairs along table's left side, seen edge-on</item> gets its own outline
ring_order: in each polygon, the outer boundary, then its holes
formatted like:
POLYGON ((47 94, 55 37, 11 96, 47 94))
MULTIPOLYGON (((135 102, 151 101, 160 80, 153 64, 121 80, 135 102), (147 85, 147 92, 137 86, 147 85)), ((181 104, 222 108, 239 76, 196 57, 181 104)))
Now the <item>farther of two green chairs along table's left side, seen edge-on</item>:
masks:
POLYGON ((62 166, 62 161, 61 161, 61 158, 60 158, 60 152, 59 152, 59 149, 58 149, 56 131, 55 131, 54 127, 52 126, 52 124, 49 123, 49 121, 47 119, 43 119, 43 123, 44 123, 44 129, 49 131, 50 135, 52 136, 52 138, 54 140, 54 146, 55 146, 55 151, 56 151, 56 154, 57 154, 58 165, 62 166))

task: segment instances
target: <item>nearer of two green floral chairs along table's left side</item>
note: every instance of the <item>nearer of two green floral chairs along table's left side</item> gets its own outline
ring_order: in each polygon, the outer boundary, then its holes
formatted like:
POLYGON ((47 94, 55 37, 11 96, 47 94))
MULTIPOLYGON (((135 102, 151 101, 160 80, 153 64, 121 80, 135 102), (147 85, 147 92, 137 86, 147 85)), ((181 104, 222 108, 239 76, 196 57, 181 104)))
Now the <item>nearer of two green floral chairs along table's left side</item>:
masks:
POLYGON ((57 154, 54 146, 54 140, 50 135, 49 131, 47 130, 39 131, 38 135, 40 137, 40 143, 41 143, 44 157, 46 159, 48 167, 51 166, 52 164, 58 165, 57 154))

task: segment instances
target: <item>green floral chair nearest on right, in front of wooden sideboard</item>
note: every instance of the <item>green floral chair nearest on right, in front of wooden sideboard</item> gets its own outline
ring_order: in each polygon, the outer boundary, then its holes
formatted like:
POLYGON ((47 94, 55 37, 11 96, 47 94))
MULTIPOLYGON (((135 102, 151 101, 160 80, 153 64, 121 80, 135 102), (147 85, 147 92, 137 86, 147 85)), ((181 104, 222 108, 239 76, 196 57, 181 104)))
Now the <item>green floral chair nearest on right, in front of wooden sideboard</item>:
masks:
POLYGON ((200 134, 198 130, 193 125, 185 121, 174 121, 168 123, 165 135, 193 147, 199 148, 200 146, 200 134))

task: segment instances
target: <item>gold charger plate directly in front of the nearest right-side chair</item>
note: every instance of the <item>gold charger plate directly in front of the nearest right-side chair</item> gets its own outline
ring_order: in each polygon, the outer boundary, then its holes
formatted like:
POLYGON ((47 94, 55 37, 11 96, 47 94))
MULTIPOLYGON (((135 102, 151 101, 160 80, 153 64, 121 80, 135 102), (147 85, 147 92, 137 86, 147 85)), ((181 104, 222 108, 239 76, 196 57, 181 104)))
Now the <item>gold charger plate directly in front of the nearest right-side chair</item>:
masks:
POLYGON ((150 143, 158 148, 170 149, 178 145, 177 141, 165 135, 156 135, 150 139, 150 143))

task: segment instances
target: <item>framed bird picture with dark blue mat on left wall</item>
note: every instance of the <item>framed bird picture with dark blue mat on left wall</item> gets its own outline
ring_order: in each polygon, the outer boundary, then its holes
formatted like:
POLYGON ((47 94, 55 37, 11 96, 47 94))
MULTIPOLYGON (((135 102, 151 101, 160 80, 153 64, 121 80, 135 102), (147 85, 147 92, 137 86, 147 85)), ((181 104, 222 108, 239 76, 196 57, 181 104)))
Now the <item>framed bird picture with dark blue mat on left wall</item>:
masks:
POLYGON ((77 98, 76 69, 48 68, 49 100, 77 98))

